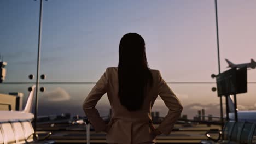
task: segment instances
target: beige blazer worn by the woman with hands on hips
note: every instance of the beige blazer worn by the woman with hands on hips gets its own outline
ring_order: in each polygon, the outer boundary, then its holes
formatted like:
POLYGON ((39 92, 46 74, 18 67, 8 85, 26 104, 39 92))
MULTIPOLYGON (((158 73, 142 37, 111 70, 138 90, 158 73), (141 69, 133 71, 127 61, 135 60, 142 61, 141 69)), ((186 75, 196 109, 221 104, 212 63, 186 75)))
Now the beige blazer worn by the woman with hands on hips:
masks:
POLYGON ((155 128, 152 123, 151 109, 158 95, 164 100, 169 111, 159 124, 158 130, 168 135, 182 112, 182 105, 176 95, 162 79, 158 70, 150 70, 153 87, 146 92, 142 109, 130 112, 120 104, 118 98, 118 67, 110 67, 101 76, 83 103, 83 110, 96 132, 106 131, 107 143, 156 142, 155 128), (110 122, 105 124, 95 106, 102 95, 107 93, 112 109, 110 122))

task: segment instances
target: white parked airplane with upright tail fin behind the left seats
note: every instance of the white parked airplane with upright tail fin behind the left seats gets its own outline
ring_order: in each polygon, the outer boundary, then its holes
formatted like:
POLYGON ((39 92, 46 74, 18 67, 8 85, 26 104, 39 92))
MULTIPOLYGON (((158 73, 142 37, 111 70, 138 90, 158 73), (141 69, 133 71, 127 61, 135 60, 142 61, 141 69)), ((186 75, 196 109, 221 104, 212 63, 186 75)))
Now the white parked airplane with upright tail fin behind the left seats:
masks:
POLYGON ((34 97, 34 88, 36 86, 32 86, 32 91, 30 95, 28 95, 27 103, 22 111, 0 111, 0 123, 1 122, 9 122, 9 121, 26 121, 32 120, 34 118, 34 114, 31 113, 33 97, 34 97))

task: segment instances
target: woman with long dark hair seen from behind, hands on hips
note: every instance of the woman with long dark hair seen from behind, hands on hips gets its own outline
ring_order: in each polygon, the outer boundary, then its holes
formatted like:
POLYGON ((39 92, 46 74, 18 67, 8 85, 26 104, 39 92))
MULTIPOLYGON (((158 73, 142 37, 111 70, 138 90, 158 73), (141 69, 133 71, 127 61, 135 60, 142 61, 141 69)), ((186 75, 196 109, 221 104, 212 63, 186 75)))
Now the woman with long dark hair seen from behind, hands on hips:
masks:
POLYGON ((182 109, 160 72, 148 68, 145 42, 137 33, 127 33, 121 38, 118 67, 106 69, 83 103, 95 131, 107 133, 107 143, 155 143, 157 135, 170 134, 182 109), (112 109, 108 124, 95 109, 105 93, 112 109), (169 111, 158 128, 154 128, 151 109, 158 95, 169 111))

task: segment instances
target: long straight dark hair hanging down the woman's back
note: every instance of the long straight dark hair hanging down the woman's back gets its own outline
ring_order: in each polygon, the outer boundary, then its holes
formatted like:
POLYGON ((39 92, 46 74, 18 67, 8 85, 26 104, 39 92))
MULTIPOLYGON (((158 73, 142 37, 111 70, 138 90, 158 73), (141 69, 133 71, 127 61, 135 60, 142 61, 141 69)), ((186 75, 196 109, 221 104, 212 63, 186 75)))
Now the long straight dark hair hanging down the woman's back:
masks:
POLYGON ((119 44, 118 94, 120 103, 129 111, 141 109, 146 87, 153 77, 148 68, 145 41, 137 33, 125 34, 119 44))

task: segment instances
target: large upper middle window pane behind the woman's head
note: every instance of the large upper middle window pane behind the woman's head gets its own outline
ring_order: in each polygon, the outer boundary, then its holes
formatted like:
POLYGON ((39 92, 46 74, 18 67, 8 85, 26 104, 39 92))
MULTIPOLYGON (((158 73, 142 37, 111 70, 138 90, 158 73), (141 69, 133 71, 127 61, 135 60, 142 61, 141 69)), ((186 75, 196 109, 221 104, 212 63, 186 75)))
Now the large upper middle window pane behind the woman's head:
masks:
POLYGON ((107 67, 118 65, 121 37, 137 32, 146 40, 150 68, 159 69, 166 81, 214 81, 213 4, 46 1, 40 72, 47 75, 45 82, 96 82, 107 67))

